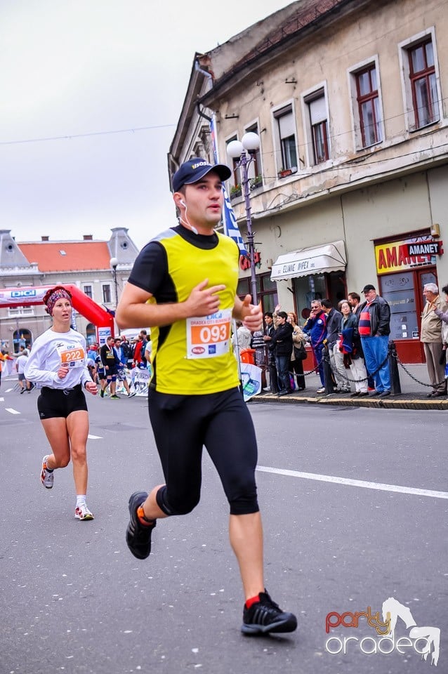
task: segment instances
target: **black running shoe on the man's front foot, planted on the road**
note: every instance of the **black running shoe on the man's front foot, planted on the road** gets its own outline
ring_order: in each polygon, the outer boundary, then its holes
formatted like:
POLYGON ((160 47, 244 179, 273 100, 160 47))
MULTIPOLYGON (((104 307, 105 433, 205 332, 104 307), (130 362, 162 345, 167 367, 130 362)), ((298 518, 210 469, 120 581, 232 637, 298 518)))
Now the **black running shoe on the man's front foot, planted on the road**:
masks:
POLYGON ((244 604, 242 633, 294 632, 297 628, 296 616, 282 611, 266 590, 259 597, 260 601, 252 604, 250 609, 246 609, 244 604))

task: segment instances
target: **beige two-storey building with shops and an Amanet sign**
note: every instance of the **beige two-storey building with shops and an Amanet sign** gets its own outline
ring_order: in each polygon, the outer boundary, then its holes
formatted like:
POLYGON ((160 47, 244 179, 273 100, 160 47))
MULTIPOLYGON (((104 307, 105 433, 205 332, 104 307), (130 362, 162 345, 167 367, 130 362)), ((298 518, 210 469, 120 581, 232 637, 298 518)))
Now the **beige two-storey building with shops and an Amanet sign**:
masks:
MULTIPOLYGON (((448 284, 448 2, 298 0, 195 56, 169 154, 220 161, 261 140, 251 207, 264 310, 304 318, 374 283, 391 337, 423 362, 423 284, 448 284)), ((228 190, 245 238, 242 176, 228 190)), ((242 267, 246 267, 242 260, 242 267)), ((242 269, 239 291, 249 289, 242 269)))

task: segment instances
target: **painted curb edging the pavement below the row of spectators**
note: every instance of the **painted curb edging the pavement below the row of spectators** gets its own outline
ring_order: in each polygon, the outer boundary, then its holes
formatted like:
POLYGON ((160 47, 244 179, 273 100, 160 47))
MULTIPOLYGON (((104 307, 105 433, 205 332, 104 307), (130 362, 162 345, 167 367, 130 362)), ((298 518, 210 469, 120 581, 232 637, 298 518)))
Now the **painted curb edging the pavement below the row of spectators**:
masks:
POLYGON ((249 402, 262 403, 274 402, 276 404, 298 404, 310 403, 317 405, 340 405, 341 407, 374 407, 376 409, 437 409, 448 410, 448 399, 438 400, 423 400, 423 399, 400 399, 395 398, 392 394, 387 398, 372 398, 372 399, 357 399, 350 398, 350 396, 336 397, 336 395, 329 396, 301 396, 291 394, 288 396, 278 397, 276 395, 258 394, 249 402))

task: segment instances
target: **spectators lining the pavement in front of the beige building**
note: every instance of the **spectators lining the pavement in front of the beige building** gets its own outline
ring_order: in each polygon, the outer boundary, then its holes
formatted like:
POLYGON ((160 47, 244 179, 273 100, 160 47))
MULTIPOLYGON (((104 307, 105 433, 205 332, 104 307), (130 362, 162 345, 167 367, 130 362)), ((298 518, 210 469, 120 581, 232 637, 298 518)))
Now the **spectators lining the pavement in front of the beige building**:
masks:
MULTIPOLYGON (((447 395, 448 379, 448 286, 440 296, 435 283, 423 288, 426 304, 421 316, 420 341, 432 390, 428 397, 447 395)), ((317 394, 350 393, 353 397, 387 397, 391 394, 388 362, 390 306, 373 284, 362 290, 364 301, 355 292, 334 308, 329 299, 313 299, 308 318, 301 327, 294 312, 265 312, 263 341, 268 385, 265 391, 283 396, 305 390, 303 360, 310 346, 313 369, 321 387, 317 394), (327 381, 324 359, 329 363, 327 381), (331 373, 331 374, 329 374, 331 373), (328 381, 330 378, 330 381, 328 381)), ((252 337, 251 346, 260 348, 252 337)), ((246 345, 246 336, 244 336, 246 345)), ((258 362, 262 362, 258 358, 258 362)))

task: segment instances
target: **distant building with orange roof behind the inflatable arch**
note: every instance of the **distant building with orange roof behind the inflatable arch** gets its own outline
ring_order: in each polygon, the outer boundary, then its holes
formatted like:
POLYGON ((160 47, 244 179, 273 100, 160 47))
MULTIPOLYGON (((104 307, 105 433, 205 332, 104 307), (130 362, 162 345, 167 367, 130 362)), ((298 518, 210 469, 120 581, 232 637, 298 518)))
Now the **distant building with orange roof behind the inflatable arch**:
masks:
MULTIPOLYGON (((0 230, 0 291, 74 284, 106 310, 114 311, 129 277, 138 248, 126 227, 114 227, 109 241, 91 234, 80 240, 16 242, 11 230, 0 230)), ((44 305, 0 308, 0 346, 18 352, 51 325, 44 305)), ((76 314, 77 330, 95 341, 95 326, 76 314)))

